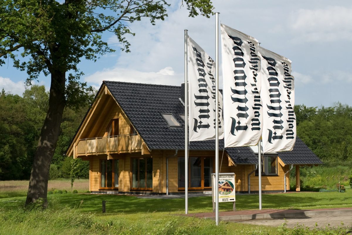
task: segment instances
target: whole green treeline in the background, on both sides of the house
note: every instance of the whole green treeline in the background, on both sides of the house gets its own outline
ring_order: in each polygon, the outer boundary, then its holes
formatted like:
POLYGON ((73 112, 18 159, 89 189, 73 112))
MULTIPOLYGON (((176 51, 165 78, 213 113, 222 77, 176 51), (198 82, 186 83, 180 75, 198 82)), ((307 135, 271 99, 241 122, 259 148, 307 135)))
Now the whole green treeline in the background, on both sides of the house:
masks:
MULTIPOLYGON (((50 178, 70 177, 70 157, 65 151, 75 135, 87 105, 66 108, 61 134, 50 167, 50 178)), ((48 109, 49 93, 44 86, 33 85, 23 96, 2 89, 0 94, 0 180, 29 179, 34 151, 48 109)), ((334 107, 296 105, 297 135, 326 163, 352 166, 352 107, 337 103, 334 107)), ((81 161, 87 178, 89 164, 81 161)))

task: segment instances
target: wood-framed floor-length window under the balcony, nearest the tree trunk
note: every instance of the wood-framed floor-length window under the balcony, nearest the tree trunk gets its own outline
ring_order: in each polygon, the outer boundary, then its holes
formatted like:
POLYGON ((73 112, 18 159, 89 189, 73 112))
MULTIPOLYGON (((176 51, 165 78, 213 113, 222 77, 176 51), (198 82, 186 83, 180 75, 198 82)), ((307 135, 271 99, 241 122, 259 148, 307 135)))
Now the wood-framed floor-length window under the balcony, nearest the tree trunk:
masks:
POLYGON ((117 189, 119 187, 119 160, 100 160, 100 188, 117 189))

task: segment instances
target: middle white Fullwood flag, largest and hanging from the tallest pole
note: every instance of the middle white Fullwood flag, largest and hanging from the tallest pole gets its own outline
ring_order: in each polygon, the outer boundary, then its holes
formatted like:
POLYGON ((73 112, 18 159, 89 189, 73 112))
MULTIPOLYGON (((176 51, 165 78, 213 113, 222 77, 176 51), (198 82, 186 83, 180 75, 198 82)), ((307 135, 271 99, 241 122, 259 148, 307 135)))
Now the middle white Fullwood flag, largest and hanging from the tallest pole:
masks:
POLYGON ((225 147, 258 144, 262 135, 257 39, 221 24, 225 147))

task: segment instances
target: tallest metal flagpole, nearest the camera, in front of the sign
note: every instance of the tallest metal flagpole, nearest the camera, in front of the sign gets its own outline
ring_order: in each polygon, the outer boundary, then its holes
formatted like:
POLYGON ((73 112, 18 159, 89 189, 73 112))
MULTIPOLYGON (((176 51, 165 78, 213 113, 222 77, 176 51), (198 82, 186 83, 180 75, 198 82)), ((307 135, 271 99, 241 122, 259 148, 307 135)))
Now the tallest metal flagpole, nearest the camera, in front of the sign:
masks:
POLYGON ((215 224, 219 225, 219 12, 215 13, 215 224))

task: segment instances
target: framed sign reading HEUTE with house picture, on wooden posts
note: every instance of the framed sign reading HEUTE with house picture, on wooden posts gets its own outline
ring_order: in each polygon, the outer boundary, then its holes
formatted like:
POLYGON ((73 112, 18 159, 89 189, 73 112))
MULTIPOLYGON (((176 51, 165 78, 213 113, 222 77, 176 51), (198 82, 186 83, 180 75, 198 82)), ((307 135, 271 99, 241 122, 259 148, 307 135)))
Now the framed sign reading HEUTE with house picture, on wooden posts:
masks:
POLYGON ((216 194, 219 196, 219 203, 232 202, 233 211, 236 211, 235 179, 235 173, 220 173, 219 180, 216 182, 215 174, 212 174, 213 212, 215 212, 216 194))

